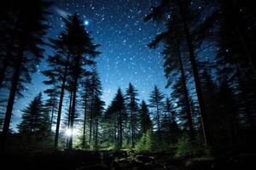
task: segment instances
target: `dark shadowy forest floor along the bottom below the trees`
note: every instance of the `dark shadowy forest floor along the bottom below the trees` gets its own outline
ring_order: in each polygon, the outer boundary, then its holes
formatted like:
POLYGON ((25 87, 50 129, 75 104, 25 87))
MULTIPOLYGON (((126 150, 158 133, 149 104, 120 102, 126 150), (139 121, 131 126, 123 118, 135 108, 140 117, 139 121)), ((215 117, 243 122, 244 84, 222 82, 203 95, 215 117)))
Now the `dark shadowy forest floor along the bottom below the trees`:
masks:
POLYGON ((256 154, 239 154, 219 158, 183 158, 177 159, 172 154, 138 154, 131 151, 52 151, 33 154, 7 154, 1 159, 3 169, 26 170, 221 170, 254 169, 256 154))

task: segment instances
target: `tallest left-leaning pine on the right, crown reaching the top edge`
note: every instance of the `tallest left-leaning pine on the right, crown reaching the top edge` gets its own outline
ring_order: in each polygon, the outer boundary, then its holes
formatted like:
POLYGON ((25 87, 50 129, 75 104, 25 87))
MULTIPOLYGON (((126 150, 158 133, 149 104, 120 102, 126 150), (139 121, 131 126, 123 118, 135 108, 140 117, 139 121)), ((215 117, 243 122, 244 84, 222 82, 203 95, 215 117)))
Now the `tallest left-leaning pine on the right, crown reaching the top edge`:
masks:
MULTIPOLYGON (((193 77, 195 80, 195 91, 197 94, 198 103, 200 106, 201 112, 201 122, 202 128, 205 136, 205 143, 211 144, 210 133, 208 132, 207 124, 207 113, 205 110, 205 103, 202 97, 201 92, 201 82, 199 77, 199 68, 196 62, 195 48, 200 48, 204 38, 209 34, 214 22, 216 20, 216 13, 204 14, 203 10, 198 10, 192 7, 192 1, 184 0, 162 0, 160 5, 156 8, 153 8, 153 12, 148 14, 145 20, 167 20, 172 21, 170 25, 178 26, 181 29, 178 31, 177 37, 182 35, 182 40, 186 44, 186 52, 189 53, 189 60, 191 63, 191 68, 193 72, 193 77), (201 16, 204 14, 206 20, 201 20, 201 16), (170 17, 166 17, 170 16, 170 17), (207 16, 207 17, 206 17, 207 16), (172 20, 172 17, 176 18, 172 20), (167 18, 167 19, 166 19, 167 18), (171 19, 171 20, 169 20, 171 19), (192 29, 193 28, 193 29, 192 29), (180 34, 181 32, 181 34, 180 34)), ((207 8, 201 7, 201 8, 207 8)), ((175 36, 175 35, 174 35, 175 36)), ((161 41, 162 37, 168 37, 167 34, 162 35, 158 38, 158 42, 161 41)), ((170 41, 174 38, 174 43, 177 40, 177 37, 171 37, 170 41)), ((179 46, 177 46, 179 47, 179 46)), ((172 49, 173 50, 173 49, 172 49)), ((176 49, 174 49, 176 50, 176 49)), ((191 128, 192 129, 192 128, 191 128)))

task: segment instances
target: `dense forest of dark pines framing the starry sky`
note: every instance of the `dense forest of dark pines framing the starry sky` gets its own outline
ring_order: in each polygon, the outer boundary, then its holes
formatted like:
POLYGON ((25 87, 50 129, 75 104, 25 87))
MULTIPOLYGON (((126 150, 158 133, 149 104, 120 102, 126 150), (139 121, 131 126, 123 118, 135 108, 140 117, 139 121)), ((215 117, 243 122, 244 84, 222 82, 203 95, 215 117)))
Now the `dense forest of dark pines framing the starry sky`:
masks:
POLYGON ((102 97, 104 73, 97 64, 101 44, 75 13, 61 17, 64 25, 57 36, 47 36, 54 5, 9 0, 0 7, 4 166, 14 158, 27 169, 47 169, 45 162, 67 169, 247 169, 253 162, 252 2, 161 0, 142 21, 165 27, 153 35, 148 50, 162 49, 169 93, 148 84, 152 91, 142 99, 130 82, 116 89, 109 105, 102 97), (53 54, 45 55, 46 48, 53 54), (214 56, 208 58, 207 53, 214 56), (14 105, 26 99, 27 84, 38 65, 46 65, 41 72, 47 89, 22 105, 21 121, 11 128, 12 117, 18 114, 14 105))

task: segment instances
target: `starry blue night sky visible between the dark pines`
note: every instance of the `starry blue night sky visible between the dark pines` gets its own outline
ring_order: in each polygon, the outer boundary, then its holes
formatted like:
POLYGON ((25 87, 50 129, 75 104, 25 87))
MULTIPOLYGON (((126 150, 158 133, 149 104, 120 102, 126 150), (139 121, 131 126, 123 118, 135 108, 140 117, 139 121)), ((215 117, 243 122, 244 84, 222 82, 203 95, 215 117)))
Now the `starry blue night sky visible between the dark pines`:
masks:
MULTIPOLYGON (((154 36, 164 30, 164 26, 154 22, 144 22, 143 18, 150 13, 151 7, 159 0, 61 0, 55 1, 50 8, 47 24, 50 26, 47 37, 57 37, 64 29, 62 17, 67 14, 79 14, 84 26, 90 31, 101 55, 96 59, 103 96, 108 105, 117 88, 125 93, 131 82, 137 88, 140 99, 148 101, 148 95, 156 84, 162 92, 166 80, 163 71, 161 49, 150 49, 147 44, 154 36)), ((46 48, 45 56, 52 51, 46 48)), ((20 122, 20 110, 39 92, 49 88, 43 84, 45 77, 40 71, 47 69, 45 61, 38 65, 38 72, 32 76, 32 84, 28 85, 25 98, 15 104, 13 128, 20 122)), ((64 104, 65 105, 65 104, 64 104)))

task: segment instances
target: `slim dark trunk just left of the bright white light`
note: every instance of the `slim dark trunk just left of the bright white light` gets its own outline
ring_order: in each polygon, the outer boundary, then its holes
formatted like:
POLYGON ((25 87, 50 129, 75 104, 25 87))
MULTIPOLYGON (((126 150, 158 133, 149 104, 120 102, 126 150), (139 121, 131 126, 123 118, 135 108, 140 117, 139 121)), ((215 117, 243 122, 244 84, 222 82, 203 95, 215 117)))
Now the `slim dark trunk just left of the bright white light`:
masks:
POLYGON ((62 110, 62 103, 64 98, 64 92, 66 88, 66 81, 67 81, 67 68, 69 64, 69 52, 67 54, 67 62, 65 66, 65 71, 63 75, 63 80, 61 84, 61 95, 60 95, 60 103, 58 108, 58 116, 57 116, 57 122, 56 122, 56 130, 55 130, 55 149, 58 147, 58 140, 59 140, 59 131, 60 131, 60 124, 61 124, 61 110, 62 110))

